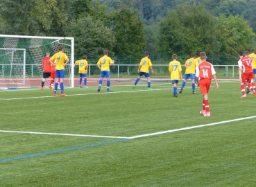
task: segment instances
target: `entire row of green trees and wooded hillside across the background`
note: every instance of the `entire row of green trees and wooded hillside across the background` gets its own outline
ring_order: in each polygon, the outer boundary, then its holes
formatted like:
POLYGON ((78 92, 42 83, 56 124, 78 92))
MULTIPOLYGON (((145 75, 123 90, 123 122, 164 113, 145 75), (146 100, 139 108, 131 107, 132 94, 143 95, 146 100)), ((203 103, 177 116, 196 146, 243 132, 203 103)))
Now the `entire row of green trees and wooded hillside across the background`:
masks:
POLYGON ((234 55, 255 46, 253 0, 1 0, 0 32, 74 37, 76 54, 234 55))

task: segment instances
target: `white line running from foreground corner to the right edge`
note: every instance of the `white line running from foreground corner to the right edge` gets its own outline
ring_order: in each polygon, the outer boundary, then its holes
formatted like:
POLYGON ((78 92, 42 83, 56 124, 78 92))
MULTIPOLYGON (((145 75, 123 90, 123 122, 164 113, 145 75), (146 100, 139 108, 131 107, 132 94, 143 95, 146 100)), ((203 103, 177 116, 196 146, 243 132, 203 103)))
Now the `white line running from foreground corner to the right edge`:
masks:
POLYGON ((167 130, 167 131, 155 132, 155 133, 151 133, 151 134, 142 134, 142 135, 129 137, 128 139, 138 139, 138 138, 142 138, 142 137, 146 137, 146 136, 155 136, 155 135, 159 135, 159 134, 167 134, 167 133, 178 132, 178 131, 182 131, 182 130, 191 130, 191 129, 196 129, 196 128, 200 128, 200 127, 208 127, 208 126, 212 126, 212 125, 219 125, 219 124, 230 123, 230 122, 234 122, 234 121, 242 121, 242 120, 246 120, 246 119, 250 119, 250 118, 256 118, 256 116, 250 116, 247 118, 237 118, 234 120, 220 121, 220 122, 216 122, 216 123, 209 123, 209 124, 205 124, 205 125, 197 125, 197 126, 192 126, 192 127, 184 127, 184 128, 180 128, 180 129, 176 129, 176 130, 167 130))

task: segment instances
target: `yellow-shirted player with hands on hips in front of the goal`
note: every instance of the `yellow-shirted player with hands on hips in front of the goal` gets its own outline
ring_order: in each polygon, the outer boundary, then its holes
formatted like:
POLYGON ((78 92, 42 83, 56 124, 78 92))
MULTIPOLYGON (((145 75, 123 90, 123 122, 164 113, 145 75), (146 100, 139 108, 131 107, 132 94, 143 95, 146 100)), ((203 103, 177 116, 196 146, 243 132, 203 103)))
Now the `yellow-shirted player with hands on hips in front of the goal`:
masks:
POLYGON ((65 77, 65 66, 67 65, 67 63, 69 63, 69 58, 65 53, 63 53, 64 51, 63 46, 59 46, 58 49, 59 49, 59 52, 55 53, 49 60, 53 66, 56 66, 55 68, 56 81, 54 84, 54 96, 57 96, 58 82, 60 82, 60 92, 61 92, 60 96, 65 97, 67 95, 64 94, 63 79, 65 77), (54 64, 54 62, 56 62, 56 64, 54 64))

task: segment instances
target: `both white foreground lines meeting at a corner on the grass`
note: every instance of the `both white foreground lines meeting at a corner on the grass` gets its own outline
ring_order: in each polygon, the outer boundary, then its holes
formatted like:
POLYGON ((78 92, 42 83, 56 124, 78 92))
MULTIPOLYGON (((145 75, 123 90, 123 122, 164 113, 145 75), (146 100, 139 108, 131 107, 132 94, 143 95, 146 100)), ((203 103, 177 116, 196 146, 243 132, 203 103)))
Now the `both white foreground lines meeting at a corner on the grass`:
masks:
POLYGON ((250 118, 256 118, 256 116, 250 116, 246 118, 237 118, 233 120, 228 120, 228 121, 220 121, 216 123, 209 123, 205 125, 196 125, 196 126, 191 126, 191 127, 184 127, 176 130, 167 130, 167 131, 162 131, 162 132, 154 132, 151 134, 142 134, 142 135, 137 135, 137 136, 131 136, 131 137, 123 137, 123 136, 99 136, 99 135, 86 135, 86 134, 61 134, 61 133, 46 133, 46 132, 21 132, 21 131, 10 131, 10 130, 0 130, 0 132, 8 132, 8 133, 23 133, 23 134, 44 134, 44 135, 60 135, 60 136, 84 136, 84 137, 96 137, 96 138, 110 138, 110 139, 138 139, 146 136, 155 136, 155 135, 160 135, 160 134, 167 134, 171 132, 178 132, 182 130, 192 130, 200 127, 209 127, 213 125, 219 125, 223 123, 230 123, 234 121, 242 121, 250 118))

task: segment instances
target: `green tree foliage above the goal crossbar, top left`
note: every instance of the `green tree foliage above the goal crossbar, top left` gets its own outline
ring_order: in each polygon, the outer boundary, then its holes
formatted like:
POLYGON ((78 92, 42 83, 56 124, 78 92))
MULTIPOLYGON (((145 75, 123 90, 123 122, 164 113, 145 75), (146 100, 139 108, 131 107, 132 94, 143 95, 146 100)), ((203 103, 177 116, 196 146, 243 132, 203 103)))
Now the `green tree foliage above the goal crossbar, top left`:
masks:
POLYGON ((1 0, 6 34, 62 35, 73 0, 1 0))

